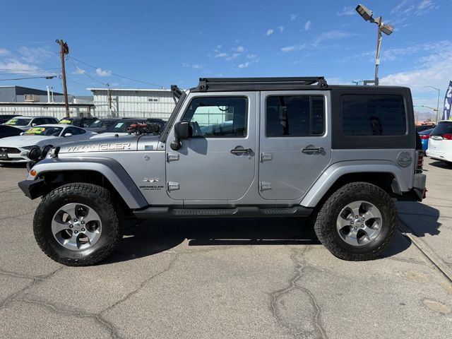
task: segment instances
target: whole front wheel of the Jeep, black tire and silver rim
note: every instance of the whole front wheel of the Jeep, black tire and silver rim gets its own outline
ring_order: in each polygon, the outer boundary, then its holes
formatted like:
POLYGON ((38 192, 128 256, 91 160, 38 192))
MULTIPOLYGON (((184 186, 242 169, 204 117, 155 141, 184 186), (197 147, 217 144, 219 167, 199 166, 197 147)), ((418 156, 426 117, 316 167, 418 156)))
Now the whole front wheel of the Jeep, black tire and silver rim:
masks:
POLYGON ((42 251, 59 263, 93 265, 111 254, 122 237, 120 210, 101 186, 60 186, 37 207, 35 239, 42 251))

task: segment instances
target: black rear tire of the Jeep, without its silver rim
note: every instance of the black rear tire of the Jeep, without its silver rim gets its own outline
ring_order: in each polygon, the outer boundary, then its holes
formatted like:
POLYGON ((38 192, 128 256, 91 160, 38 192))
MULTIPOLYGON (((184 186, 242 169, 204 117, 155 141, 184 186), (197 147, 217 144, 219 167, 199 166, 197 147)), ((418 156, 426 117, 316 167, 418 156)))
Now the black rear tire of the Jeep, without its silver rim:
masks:
POLYGON ((314 230, 320 242, 334 256, 347 261, 366 261, 379 258, 391 243, 398 227, 396 204, 385 191, 367 182, 352 182, 335 191, 317 214, 314 230), (340 211, 353 201, 369 201, 381 212, 379 235, 369 244, 352 246, 341 239, 336 220, 340 211))

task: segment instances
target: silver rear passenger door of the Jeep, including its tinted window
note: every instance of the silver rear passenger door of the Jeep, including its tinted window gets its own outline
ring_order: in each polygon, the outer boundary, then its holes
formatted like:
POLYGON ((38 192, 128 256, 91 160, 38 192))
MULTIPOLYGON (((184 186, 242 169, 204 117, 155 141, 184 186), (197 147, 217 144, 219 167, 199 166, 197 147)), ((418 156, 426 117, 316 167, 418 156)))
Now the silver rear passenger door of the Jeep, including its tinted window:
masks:
POLYGON ((331 159, 329 93, 261 93, 259 194, 265 199, 297 200, 331 159))

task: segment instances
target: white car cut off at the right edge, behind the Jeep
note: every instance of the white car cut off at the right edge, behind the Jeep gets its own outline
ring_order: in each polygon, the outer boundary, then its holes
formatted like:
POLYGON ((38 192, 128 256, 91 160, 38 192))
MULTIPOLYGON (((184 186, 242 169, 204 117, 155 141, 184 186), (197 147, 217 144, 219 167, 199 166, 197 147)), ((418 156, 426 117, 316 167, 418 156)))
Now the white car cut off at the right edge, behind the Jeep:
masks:
POLYGON ((427 156, 452 162, 452 120, 438 121, 430 133, 427 156))

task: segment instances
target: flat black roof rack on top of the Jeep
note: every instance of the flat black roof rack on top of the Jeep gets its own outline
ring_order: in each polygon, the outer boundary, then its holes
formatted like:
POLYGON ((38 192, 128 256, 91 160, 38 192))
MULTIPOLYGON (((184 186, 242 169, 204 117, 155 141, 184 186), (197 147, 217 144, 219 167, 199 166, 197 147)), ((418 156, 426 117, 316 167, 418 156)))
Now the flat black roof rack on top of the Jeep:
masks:
POLYGON ((193 92, 224 90, 298 90, 326 89, 328 83, 323 76, 285 78, 199 78, 193 92), (316 86, 314 87, 313 85, 316 86))

